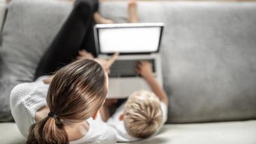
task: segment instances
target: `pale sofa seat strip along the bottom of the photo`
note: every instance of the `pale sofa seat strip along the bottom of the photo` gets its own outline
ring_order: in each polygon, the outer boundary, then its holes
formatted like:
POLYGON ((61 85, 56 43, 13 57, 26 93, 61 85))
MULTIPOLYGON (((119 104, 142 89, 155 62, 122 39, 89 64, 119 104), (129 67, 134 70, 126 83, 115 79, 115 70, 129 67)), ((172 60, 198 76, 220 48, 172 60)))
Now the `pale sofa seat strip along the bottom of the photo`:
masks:
MULTIPOLYGON (((0 134, 1 143, 25 143, 25 138, 14 123, 0 123, 0 134)), ((205 124, 166 124, 156 136, 132 144, 251 144, 256 143, 255 134, 256 120, 205 124)))

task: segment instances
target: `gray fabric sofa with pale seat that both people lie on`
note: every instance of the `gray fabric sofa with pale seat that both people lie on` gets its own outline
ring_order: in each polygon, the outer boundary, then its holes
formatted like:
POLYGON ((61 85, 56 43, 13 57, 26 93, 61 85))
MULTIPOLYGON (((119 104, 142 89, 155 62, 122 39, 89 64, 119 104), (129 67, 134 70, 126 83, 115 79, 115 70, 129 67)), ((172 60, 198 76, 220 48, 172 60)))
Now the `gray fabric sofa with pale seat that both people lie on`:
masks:
MULTIPOLYGON (((126 23, 127 1, 104 1, 100 13, 126 23)), ((0 3, 0 143, 25 143, 10 114, 12 87, 35 68, 72 4, 0 3), (1 23, 3 21, 3 23, 1 23)), ((160 54, 167 124, 134 143, 256 143, 256 3, 139 1, 139 22, 165 23, 160 54)))

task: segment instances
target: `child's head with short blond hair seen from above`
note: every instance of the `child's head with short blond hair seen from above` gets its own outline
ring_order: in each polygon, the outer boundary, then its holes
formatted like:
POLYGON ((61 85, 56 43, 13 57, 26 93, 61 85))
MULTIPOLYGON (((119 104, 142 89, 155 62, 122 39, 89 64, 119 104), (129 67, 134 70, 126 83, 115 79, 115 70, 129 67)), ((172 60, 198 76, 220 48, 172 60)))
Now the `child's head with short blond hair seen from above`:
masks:
POLYGON ((151 136, 163 121, 159 98, 150 91, 135 91, 124 106, 122 119, 130 135, 138 138, 151 136))

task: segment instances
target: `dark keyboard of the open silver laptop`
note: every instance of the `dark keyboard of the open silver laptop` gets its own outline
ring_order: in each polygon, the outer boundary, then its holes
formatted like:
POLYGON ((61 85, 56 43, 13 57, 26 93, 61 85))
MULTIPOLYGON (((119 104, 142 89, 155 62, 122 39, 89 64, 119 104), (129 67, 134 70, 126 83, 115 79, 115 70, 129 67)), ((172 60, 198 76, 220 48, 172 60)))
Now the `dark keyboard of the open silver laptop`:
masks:
POLYGON ((150 61, 153 72, 155 72, 154 59, 129 59, 117 60, 111 66, 109 77, 134 77, 139 76, 136 72, 137 63, 139 61, 150 61))

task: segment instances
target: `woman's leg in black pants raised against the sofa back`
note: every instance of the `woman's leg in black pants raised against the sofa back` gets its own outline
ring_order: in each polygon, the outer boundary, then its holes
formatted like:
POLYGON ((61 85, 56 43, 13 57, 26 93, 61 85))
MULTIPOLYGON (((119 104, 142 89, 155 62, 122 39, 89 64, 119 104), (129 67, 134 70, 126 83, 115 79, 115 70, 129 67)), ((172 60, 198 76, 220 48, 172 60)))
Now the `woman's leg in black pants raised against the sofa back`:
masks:
POLYGON ((70 16, 40 60, 35 71, 35 78, 51 74, 75 59, 85 33, 91 29, 93 13, 94 3, 86 0, 74 3, 70 16))

